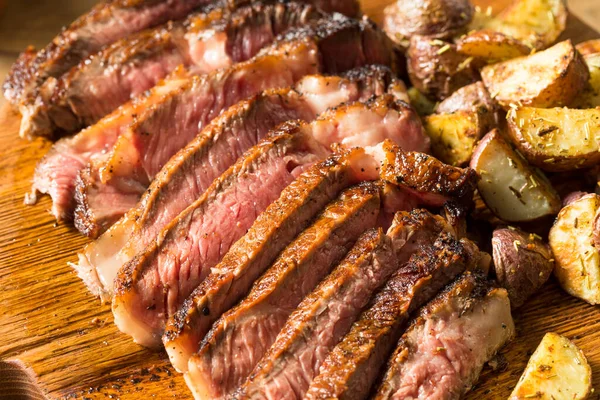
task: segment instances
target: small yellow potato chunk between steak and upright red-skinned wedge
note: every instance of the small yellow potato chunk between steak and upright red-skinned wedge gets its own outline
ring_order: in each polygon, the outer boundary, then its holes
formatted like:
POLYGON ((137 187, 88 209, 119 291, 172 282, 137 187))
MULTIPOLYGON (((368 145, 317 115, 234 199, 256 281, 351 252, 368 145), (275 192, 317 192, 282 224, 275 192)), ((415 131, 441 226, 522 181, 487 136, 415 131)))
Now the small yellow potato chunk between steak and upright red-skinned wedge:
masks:
POLYGON ((477 110, 432 114, 424 118, 423 126, 433 155, 454 166, 469 163, 477 142, 490 128, 485 112, 477 110))

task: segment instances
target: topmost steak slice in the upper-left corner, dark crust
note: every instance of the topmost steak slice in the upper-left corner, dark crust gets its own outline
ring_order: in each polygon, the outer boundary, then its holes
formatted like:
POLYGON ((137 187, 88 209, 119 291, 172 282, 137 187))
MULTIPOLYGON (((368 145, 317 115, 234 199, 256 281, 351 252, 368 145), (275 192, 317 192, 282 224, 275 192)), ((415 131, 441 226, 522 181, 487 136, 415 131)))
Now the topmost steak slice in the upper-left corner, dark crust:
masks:
POLYGON ((49 77, 59 77, 90 54, 131 33, 185 17, 209 0, 110 0, 63 29, 48 46, 21 57, 4 82, 13 104, 26 100, 49 77), (23 60, 27 60, 23 62, 23 60))

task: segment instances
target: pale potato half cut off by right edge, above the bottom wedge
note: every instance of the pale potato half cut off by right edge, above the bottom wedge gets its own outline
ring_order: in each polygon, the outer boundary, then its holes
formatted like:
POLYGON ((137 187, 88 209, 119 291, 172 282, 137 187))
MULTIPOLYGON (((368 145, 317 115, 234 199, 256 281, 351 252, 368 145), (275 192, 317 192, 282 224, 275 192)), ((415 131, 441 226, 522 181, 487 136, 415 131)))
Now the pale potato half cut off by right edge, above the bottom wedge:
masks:
POLYGON ((571 201, 558 214, 548 236, 560 286, 590 304, 600 304, 600 255, 594 246, 599 208, 597 194, 571 201))

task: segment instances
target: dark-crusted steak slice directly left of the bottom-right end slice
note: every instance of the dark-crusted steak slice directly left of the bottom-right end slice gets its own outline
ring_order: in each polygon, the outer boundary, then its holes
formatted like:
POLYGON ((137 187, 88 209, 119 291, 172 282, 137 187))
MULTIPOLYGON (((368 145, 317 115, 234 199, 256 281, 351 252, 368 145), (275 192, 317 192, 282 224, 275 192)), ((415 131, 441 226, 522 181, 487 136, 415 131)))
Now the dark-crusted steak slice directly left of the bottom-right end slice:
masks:
POLYGON ((364 399, 397 343, 409 313, 425 304, 480 256, 466 239, 442 232, 392 276, 321 365, 308 399, 364 399))

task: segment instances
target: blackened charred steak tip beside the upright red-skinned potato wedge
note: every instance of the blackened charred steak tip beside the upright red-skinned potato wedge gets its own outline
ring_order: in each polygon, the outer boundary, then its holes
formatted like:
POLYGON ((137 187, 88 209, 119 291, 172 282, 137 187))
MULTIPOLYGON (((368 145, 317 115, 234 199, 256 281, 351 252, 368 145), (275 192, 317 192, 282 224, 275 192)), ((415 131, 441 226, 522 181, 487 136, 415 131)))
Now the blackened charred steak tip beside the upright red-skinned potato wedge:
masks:
POLYGON ((405 152, 391 143, 384 147, 388 157, 393 157, 383 166, 384 179, 417 192, 471 201, 478 181, 472 168, 453 167, 425 153, 405 152))

